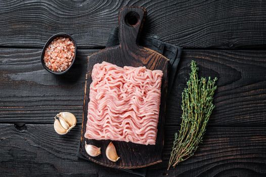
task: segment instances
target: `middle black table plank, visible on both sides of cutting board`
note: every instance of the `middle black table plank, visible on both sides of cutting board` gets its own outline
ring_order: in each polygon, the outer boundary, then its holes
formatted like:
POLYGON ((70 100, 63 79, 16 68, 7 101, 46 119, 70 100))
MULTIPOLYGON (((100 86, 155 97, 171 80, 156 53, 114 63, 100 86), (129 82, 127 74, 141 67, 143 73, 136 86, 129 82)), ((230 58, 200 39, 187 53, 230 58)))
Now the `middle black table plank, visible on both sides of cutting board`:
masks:
MULTIPOLYGON (((53 123, 60 111, 82 118, 86 56, 78 50, 66 76, 45 71, 39 49, 0 50, 0 122, 53 123)), ((216 108, 209 125, 264 126, 266 124, 266 51, 184 50, 178 76, 168 99, 166 124, 180 124, 181 93, 194 59, 200 75, 217 76, 216 108)))

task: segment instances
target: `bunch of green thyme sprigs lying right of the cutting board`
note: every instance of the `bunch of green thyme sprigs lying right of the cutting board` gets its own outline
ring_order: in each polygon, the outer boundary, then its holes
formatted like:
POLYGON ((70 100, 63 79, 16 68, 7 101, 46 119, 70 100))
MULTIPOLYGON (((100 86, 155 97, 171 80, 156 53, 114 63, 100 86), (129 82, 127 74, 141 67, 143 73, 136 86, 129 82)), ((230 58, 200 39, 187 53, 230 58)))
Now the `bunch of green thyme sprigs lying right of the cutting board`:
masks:
POLYGON ((198 78, 198 67, 195 61, 191 62, 190 78, 187 88, 182 93, 182 123, 179 133, 174 134, 173 147, 168 164, 175 167, 179 162, 191 157, 202 141, 209 117, 214 105, 213 94, 216 90, 215 77, 208 80, 198 78))

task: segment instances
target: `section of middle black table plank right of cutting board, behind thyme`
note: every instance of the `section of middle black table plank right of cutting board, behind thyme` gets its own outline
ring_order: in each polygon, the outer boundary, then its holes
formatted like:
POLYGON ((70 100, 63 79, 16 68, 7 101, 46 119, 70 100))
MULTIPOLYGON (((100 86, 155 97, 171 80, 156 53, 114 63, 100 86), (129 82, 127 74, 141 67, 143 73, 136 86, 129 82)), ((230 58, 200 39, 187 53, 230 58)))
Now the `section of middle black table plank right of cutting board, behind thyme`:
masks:
POLYGON ((266 124, 265 51, 185 50, 178 76, 167 102, 166 124, 180 124, 181 93, 189 77, 191 60, 199 66, 199 75, 217 77, 216 106, 210 125, 264 126, 266 124), (176 117, 178 117, 176 119, 176 117))

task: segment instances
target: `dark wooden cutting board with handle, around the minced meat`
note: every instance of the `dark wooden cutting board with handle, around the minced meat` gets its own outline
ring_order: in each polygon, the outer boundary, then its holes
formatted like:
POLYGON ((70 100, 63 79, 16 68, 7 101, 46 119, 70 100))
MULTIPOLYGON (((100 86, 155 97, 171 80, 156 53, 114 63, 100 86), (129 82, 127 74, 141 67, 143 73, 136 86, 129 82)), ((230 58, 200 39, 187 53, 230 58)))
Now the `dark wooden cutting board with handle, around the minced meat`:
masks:
POLYGON ((164 113, 167 91, 167 69, 169 60, 163 55, 141 46, 138 46, 138 36, 143 27, 146 17, 146 10, 141 7, 124 7, 119 12, 119 46, 106 48, 88 57, 84 104, 82 115, 81 143, 79 152, 87 159, 101 165, 114 168, 140 168, 156 164, 162 161, 162 149, 164 141, 164 113), (156 145, 140 145, 131 142, 112 141, 120 159, 112 162, 107 159, 105 150, 111 140, 88 140, 84 138, 87 122, 87 106, 92 82, 92 70, 96 63, 103 61, 117 66, 146 66, 150 70, 162 70, 163 78, 161 84, 161 103, 158 122, 156 145), (85 151, 85 141, 101 147, 102 153, 97 157, 89 156, 85 151))

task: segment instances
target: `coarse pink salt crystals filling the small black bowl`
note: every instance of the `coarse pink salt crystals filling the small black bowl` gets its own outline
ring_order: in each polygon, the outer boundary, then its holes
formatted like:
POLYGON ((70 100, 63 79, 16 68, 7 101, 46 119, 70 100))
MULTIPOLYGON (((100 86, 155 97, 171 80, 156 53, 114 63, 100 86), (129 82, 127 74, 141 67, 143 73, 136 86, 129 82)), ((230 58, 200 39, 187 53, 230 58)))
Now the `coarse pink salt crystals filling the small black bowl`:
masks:
POLYGON ((54 72, 65 71, 71 64, 75 54, 75 46, 68 37, 57 37, 46 48, 43 60, 54 72))

